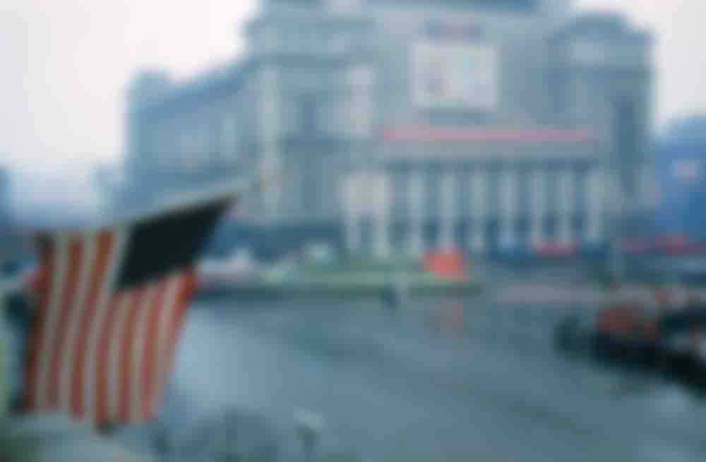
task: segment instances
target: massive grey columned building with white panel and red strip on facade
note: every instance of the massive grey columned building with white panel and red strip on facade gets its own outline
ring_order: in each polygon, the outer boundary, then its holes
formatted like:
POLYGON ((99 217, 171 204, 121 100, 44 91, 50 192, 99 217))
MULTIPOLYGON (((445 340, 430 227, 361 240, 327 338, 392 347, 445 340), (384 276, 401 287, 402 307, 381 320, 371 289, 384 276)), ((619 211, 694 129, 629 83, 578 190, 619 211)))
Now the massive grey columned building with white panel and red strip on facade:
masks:
POLYGON ((648 183, 652 41, 623 16, 263 0, 245 33, 244 56, 196 80, 136 79, 124 205, 278 169, 246 213, 294 240, 532 250, 602 245, 609 206, 648 183))

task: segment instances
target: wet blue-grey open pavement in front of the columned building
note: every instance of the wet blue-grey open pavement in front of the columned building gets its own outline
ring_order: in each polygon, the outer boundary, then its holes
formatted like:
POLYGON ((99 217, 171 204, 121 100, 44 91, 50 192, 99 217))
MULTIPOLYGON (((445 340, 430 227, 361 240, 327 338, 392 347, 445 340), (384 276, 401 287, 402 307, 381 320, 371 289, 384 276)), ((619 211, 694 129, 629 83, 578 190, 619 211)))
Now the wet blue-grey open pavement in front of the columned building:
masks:
POLYGON ((376 302, 197 303, 167 415, 184 428, 237 407, 286 428, 309 409, 324 449, 366 461, 704 460, 694 396, 558 357, 551 315, 513 334, 497 309, 417 300, 393 319, 376 302))

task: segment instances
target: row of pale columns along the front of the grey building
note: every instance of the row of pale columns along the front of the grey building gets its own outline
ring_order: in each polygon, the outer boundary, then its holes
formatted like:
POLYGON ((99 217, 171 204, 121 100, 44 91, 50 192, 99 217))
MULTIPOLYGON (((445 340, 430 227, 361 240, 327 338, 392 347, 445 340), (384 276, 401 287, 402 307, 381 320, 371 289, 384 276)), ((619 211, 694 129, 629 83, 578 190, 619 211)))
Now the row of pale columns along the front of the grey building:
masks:
MULTIPOLYGON (((571 245, 573 243, 599 244, 602 240, 602 227, 604 217, 604 182, 601 171, 592 169, 587 172, 585 181, 578 183, 578 172, 566 170, 558 172, 556 189, 549 191, 549 174, 546 171, 534 171, 530 175, 529 190, 527 193, 527 211, 530 217, 530 243, 538 245, 546 241, 544 233, 544 219, 549 214, 557 218, 556 243, 571 245), (576 207, 577 184, 585 190, 585 206, 576 207), (556 195, 556 209, 549 209, 549 194, 556 195), (577 236, 573 228, 573 217, 580 212, 585 221, 582 235, 577 236)), ((498 218, 498 244, 501 248, 512 249, 520 245, 515 222, 520 216, 520 188, 519 174, 517 171, 502 171, 498 178, 496 209, 491 210, 490 174, 487 171, 474 171, 471 174, 460 175, 448 172, 443 174, 439 183, 439 238, 437 247, 450 249, 455 247, 454 224, 461 216, 470 217, 474 226, 469 231, 469 245, 472 250, 484 253, 488 248, 485 223, 491 214, 498 218), (458 182, 462 182, 459 184, 458 182), (468 188, 469 204, 467 210, 460 210, 460 188, 468 188)), ((384 174, 376 176, 361 175, 358 182, 349 186, 346 227, 349 236, 349 249, 359 250, 362 245, 362 221, 368 219, 373 223, 374 253, 384 257, 391 253, 390 228, 392 223, 391 211, 393 209, 392 188, 390 179, 384 174), (368 181, 366 181, 368 178, 368 181)), ((426 250, 424 245, 424 222, 427 214, 424 207, 428 191, 424 190, 424 174, 412 172, 407 178, 405 200, 407 213, 405 219, 409 226, 407 238, 407 252, 419 255, 426 250)), ((398 193, 399 195, 399 193, 398 193)), ((398 217, 395 217, 396 219, 398 217)))

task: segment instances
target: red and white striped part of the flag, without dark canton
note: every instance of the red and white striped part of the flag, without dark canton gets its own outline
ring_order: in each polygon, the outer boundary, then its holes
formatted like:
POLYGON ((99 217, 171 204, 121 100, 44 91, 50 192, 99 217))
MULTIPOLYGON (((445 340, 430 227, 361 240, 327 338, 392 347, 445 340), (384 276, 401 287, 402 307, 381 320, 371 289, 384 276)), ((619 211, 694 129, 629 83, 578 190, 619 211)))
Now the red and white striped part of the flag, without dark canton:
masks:
POLYGON ((66 411, 95 425, 153 416, 193 275, 177 272, 116 291, 128 251, 127 229, 57 233, 42 248, 28 411, 66 411))

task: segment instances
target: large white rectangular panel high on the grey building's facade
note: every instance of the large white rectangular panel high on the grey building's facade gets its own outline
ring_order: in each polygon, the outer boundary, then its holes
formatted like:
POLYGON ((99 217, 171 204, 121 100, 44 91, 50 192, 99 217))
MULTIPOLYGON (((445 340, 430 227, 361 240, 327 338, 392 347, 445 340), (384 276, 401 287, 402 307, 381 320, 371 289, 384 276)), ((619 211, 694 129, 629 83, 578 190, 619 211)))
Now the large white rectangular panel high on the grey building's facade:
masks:
POLYGON ((412 46, 412 97, 428 108, 489 111, 497 104, 497 54, 487 44, 424 40, 412 46))

